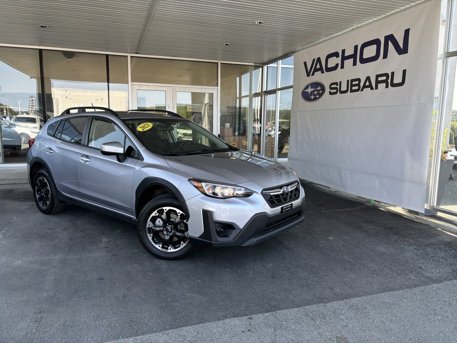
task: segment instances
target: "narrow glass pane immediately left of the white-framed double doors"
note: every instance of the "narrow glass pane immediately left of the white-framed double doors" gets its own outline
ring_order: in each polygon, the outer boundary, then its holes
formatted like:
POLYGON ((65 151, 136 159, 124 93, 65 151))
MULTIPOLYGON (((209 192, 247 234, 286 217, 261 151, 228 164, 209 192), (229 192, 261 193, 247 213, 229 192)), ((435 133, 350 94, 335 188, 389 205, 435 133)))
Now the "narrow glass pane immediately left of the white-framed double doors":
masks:
POLYGON ((126 56, 108 56, 109 108, 128 109, 128 66, 126 56))

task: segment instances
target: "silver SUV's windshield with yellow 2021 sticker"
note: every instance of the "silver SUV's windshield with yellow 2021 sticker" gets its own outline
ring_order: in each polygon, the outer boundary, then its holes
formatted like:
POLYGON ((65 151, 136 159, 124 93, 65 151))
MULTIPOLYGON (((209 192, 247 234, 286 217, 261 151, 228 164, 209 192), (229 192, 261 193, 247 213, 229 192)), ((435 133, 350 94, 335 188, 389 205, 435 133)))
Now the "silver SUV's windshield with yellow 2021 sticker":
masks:
POLYGON ((124 119, 125 125, 149 151, 159 155, 182 156, 233 150, 203 127, 172 118, 124 119))

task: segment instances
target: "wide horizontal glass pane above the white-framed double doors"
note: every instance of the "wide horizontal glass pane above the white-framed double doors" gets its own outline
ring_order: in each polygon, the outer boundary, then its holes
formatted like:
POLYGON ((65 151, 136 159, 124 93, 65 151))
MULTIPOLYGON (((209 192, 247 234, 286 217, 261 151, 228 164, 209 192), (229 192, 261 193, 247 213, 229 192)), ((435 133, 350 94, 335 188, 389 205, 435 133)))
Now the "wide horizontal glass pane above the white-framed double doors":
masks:
POLYGON ((172 85, 217 86, 217 63, 131 58, 132 82, 172 85))

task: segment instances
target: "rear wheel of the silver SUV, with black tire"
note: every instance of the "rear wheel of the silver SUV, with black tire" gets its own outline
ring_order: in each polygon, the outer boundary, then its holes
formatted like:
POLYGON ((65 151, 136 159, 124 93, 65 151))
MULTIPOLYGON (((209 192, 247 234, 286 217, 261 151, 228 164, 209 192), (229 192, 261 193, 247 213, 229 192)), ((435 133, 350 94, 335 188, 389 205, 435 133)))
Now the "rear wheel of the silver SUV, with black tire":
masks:
POLYGON ((35 174, 32 189, 36 207, 45 215, 53 215, 64 210, 66 202, 57 199, 57 189, 47 170, 41 169, 35 174))

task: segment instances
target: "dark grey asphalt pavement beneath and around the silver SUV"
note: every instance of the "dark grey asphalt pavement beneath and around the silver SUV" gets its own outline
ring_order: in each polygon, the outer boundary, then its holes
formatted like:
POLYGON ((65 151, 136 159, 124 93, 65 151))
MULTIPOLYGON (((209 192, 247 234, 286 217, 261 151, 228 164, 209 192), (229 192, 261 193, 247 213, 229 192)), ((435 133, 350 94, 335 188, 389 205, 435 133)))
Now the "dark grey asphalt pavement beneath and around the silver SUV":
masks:
POLYGON ((304 187, 298 227, 163 261, 132 224, 0 184, 0 342, 455 342, 457 231, 304 187))

